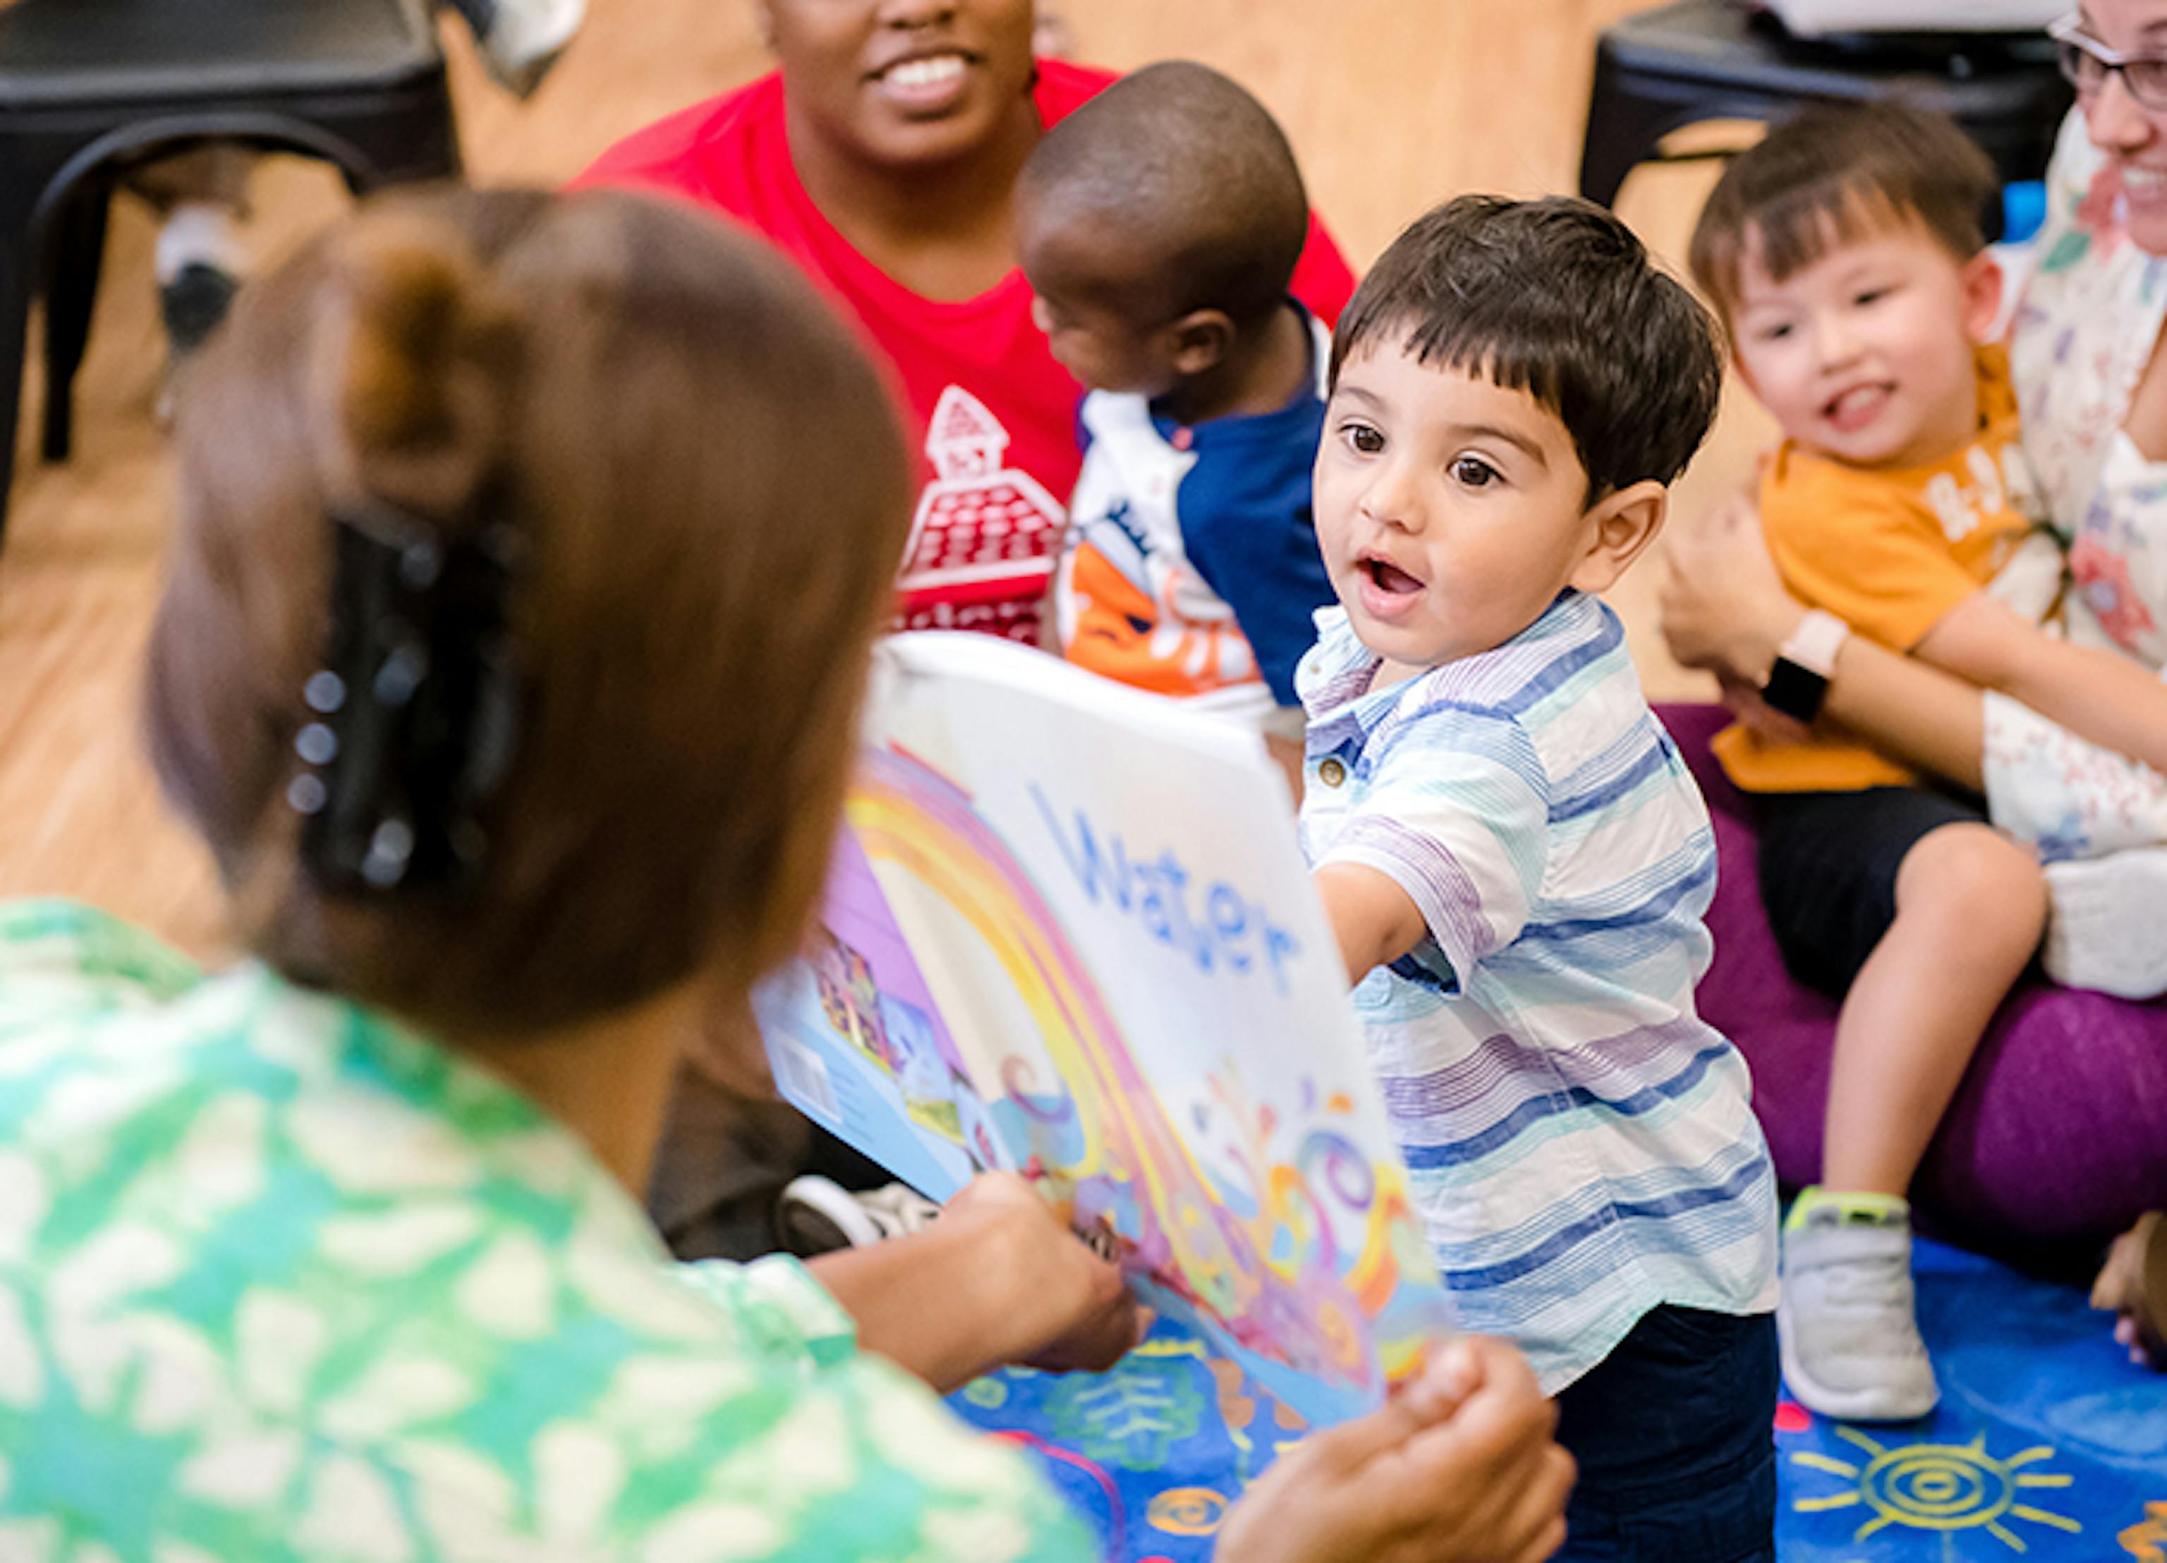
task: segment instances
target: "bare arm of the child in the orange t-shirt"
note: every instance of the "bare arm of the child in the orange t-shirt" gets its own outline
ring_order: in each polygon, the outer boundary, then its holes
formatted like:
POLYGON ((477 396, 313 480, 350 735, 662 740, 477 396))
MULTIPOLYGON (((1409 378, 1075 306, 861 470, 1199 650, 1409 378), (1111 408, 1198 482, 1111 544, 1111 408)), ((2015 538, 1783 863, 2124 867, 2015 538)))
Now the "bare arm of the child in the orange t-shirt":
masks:
POLYGON ((1916 655, 2167 772, 2167 683, 2128 657, 2054 640, 1985 592, 1926 631, 1916 655))

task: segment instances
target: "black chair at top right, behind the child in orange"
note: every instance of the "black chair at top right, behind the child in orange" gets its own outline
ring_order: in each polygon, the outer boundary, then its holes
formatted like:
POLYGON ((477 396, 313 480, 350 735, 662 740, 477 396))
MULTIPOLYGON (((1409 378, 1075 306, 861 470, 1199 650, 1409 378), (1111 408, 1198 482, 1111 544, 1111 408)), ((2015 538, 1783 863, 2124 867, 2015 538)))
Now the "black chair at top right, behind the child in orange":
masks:
POLYGON ((1580 193, 1608 206, 1634 167, 1664 160, 1658 143, 1684 126, 1896 93, 1963 126, 2004 184, 2046 171, 2072 102, 2043 33, 1799 39, 1738 0, 1677 0, 1604 30, 1580 193))

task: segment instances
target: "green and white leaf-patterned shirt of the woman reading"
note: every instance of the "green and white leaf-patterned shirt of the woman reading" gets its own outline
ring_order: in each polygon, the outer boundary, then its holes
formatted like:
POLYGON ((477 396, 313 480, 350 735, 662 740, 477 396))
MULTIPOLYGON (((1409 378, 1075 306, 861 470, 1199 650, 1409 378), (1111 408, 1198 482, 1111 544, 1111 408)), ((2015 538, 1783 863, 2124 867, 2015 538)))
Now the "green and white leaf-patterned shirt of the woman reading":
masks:
POLYGON ((262 965, 0 906, 0 1559, 1086 1559, 789 1260, 262 965))

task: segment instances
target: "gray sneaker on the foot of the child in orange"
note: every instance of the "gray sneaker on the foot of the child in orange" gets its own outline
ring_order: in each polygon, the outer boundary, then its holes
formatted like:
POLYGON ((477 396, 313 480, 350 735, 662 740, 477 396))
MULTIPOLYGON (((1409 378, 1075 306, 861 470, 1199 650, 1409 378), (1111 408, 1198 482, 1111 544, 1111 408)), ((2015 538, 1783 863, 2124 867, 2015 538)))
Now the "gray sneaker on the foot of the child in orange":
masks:
POLYGON ((1909 1422, 1942 1392, 1918 1338, 1911 1223, 1818 1205, 1783 1231, 1783 1379, 1842 1422, 1909 1422))

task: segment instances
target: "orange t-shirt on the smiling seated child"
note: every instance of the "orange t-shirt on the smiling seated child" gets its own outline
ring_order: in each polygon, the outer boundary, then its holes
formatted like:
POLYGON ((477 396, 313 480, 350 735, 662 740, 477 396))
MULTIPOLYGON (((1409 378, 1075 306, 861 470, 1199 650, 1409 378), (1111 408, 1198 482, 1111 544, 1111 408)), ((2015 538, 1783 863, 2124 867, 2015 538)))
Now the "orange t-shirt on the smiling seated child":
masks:
MULTIPOLYGON (((1868 473, 1794 440, 1760 483, 1762 533, 1783 583, 1853 633, 1909 653, 1974 596, 2043 520, 2017 438, 2009 356, 1978 349, 1978 434, 1939 462, 1868 473)), ((1842 735, 1777 744, 1727 726, 1716 759, 1747 791, 1905 787, 1909 770, 1842 735)))

